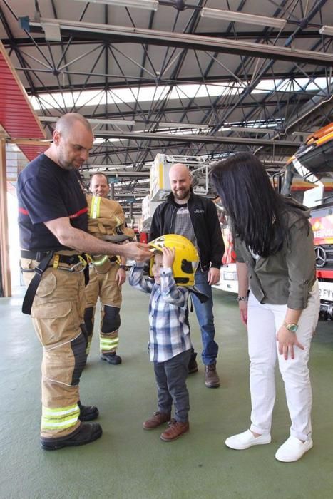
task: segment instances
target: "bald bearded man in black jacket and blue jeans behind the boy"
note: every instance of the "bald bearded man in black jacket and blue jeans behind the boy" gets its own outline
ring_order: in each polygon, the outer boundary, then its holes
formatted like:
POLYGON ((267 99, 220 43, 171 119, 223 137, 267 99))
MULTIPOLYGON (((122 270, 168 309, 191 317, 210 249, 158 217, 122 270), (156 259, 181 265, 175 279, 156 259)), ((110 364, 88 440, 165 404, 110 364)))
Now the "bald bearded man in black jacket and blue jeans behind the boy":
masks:
MULTIPOLYGON (((209 299, 202 303, 193 294, 193 304, 203 341, 205 385, 216 388, 220 386, 220 379, 216 371, 218 345, 215 341, 212 313, 212 284, 220 280, 220 266, 225 251, 220 222, 214 203, 193 193, 190 170, 185 165, 173 165, 169 178, 172 192, 155 210, 150 227, 150 241, 164 234, 180 234, 192 241, 198 249, 200 265, 195 272, 195 287, 208 295, 209 299)), ((198 371, 195 356, 193 351, 189 373, 198 371)))

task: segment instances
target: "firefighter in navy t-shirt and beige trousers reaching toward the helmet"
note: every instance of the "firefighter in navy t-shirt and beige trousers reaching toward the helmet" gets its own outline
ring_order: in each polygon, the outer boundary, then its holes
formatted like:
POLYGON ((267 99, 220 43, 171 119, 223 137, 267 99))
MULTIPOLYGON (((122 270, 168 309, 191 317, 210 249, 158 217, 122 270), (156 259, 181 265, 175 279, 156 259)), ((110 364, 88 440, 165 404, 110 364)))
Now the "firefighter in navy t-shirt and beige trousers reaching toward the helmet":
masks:
POLYGON ((102 434, 94 406, 82 406, 78 383, 86 364, 82 252, 149 259, 146 245, 115 245, 89 235, 86 197, 77 170, 93 147, 86 118, 63 115, 53 143, 19 175, 21 268, 28 287, 24 312, 43 346, 41 446, 90 443, 102 434), (35 294, 36 293, 36 294, 35 294))

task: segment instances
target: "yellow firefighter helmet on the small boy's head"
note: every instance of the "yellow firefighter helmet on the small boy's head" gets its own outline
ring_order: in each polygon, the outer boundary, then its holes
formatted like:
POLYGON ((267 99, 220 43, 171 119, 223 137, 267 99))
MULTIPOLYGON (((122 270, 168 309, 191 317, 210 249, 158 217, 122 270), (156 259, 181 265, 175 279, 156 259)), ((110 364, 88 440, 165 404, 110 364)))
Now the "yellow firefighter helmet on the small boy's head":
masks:
MULTIPOLYGON (((194 286, 194 274, 199 264, 199 254, 195 246, 187 237, 178 234, 165 234, 156 237, 149 243, 154 249, 162 251, 164 247, 175 248, 175 261, 173 262, 173 277, 180 286, 194 286)), ((150 260, 150 277, 153 259, 150 260)))

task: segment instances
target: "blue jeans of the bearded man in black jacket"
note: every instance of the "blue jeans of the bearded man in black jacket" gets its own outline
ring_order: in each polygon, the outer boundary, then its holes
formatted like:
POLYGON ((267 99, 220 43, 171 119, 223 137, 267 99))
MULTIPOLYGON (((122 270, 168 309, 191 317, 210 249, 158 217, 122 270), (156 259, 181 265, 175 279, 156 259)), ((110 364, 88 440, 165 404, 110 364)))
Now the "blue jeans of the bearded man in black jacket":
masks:
POLYGON ((197 315, 201 330, 201 339, 203 341, 203 353, 201 354, 201 357, 205 366, 209 366, 216 362, 218 352, 218 345, 216 341, 214 341, 215 327, 214 316, 212 314, 212 287, 208 284, 207 279, 208 270, 203 271, 198 269, 197 272, 195 272, 195 287, 198 288, 200 292, 208 295, 208 302, 201 303, 195 294, 191 294, 195 314, 197 315))

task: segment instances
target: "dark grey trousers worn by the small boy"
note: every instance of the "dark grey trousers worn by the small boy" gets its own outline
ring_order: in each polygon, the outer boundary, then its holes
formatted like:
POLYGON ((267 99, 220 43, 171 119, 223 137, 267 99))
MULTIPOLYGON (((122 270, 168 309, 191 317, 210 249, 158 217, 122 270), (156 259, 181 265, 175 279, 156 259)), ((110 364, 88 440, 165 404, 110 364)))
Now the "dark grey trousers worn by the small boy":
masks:
POLYGON ((191 351, 186 350, 165 362, 154 361, 155 379, 158 386, 158 411, 171 413, 175 406, 175 420, 188 421, 190 401, 186 378, 191 351))

